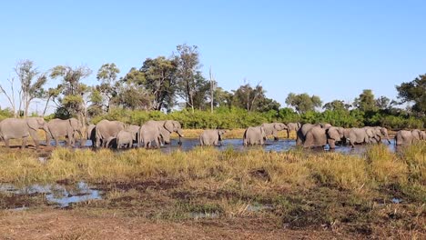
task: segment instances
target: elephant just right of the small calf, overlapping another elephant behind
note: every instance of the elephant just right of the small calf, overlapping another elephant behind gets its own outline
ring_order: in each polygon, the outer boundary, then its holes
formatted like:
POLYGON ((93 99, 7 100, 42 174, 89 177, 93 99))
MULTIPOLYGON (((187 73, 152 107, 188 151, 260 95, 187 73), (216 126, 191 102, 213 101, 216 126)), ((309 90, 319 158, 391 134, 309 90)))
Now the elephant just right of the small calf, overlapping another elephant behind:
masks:
POLYGON ((144 142, 144 147, 152 147, 152 142, 156 142, 157 148, 161 146, 161 137, 163 133, 168 133, 168 130, 164 129, 164 126, 158 123, 158 121, 150 120, 140 127, 141 139, 144 142))

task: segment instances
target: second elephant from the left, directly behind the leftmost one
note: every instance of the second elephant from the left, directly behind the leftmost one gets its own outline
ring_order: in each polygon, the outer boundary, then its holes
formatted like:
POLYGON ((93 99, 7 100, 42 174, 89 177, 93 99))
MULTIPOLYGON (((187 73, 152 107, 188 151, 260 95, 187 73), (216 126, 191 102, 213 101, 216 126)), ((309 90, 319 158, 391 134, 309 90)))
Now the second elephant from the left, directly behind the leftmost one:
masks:
POLYGON ((81 133, 82 125, 78 122, 76 118, 70 119, 59 119, 55 118, 50 120, 47 124, 47 133, 46 133, 46 143, 50 145, 50 139, 55 140, 56 146, 58 146, 58 141, 60 137, 66 137, 66 145, 74 146, 76 144, 75 135, 80 135, 80 143, 82 142, 83 134, 81 133))

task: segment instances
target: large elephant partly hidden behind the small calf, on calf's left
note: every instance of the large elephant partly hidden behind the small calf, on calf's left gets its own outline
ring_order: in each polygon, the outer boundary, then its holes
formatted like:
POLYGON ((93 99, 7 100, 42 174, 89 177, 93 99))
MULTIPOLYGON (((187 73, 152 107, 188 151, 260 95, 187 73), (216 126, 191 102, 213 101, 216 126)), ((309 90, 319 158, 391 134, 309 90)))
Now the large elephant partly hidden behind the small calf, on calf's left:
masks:
POLYGON ((95 146, 99 147, 100 145, 107 147, 109 145, 108 138, 110 136, 116 137, 117 134, 125 129, 125 124, 119 121, 108 121, 101 120, 95 126, 95 146))

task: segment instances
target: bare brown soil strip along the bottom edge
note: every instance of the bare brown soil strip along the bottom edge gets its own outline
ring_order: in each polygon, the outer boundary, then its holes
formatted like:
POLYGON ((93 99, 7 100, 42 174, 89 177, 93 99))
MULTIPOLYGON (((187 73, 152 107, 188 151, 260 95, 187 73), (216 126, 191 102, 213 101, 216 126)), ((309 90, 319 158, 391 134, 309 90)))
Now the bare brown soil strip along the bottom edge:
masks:
POLYGON ((331 230, 279 229, 253 218, 149 223, 75 210, 0 212, 1 239, 355 239, 331 230))

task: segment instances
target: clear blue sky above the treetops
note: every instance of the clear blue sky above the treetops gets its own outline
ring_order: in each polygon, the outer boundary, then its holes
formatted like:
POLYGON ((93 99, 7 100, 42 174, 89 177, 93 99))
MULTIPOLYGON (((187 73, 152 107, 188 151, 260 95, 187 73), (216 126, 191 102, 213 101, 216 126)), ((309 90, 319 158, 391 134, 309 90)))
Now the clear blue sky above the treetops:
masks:
MULTIPOLYGON (((282 105, 289 92, 324 103, 365 88, 395 98, 395 85, 426 73, 426 1, 2 1, 0 8, 2 84, 20 59, 40 70, 88 65, 95 73, 113 62, 124 75, 184 43, 198 45, 204 75, 211 66, 226 90, 247 78, 282 105)), ((86 79, 95 82, 95 74, 86 79)))

